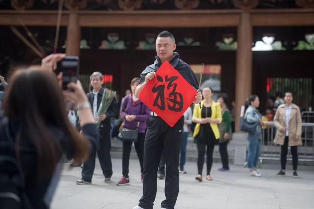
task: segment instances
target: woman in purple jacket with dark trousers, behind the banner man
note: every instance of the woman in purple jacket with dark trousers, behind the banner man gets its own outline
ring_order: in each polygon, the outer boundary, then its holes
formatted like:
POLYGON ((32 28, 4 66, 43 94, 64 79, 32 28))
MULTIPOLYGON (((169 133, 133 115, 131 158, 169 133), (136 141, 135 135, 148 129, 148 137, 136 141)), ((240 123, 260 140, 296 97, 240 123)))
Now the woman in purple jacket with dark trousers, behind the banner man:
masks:
MULTIPOLYGON (((134 143, 139 163, 141 166, 141 181, 143 182, 143 156, 144 156, 144 139, 146 132, 146 121, 150 116, 149 108, 135 96, 135 89, 138 85, 138 78, 131 81, 132 93, 122 99, 120 116, 124 119, 123 127, 128 129, 138 128, 138 138, 134 143)), ((123 177, 117 185, 129 185, 129 158, 132 148, 131 141, 123 142, 122 154, 122 174, 123 177)))

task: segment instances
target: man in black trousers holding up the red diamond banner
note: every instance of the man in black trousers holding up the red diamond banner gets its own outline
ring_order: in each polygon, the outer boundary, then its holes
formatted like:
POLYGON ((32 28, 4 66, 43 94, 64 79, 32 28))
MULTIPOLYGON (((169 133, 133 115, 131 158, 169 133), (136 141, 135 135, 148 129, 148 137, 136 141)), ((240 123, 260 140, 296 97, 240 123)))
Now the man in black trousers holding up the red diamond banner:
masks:
MULTIPOLYGON (((152 95, 156 95, 154 94, 156 92, 158 92, 158 94, 154 98, 154 104, 148 105, 150 109, 152 110, 152 108, 156 109, 156 107, 158 107, 161 110, 161 113, 164 111, 168 115, 172 114, 169 110, 173 110, 178 113, 179 110, 177 109, 180 109, 180 112, 183 112, 180 119, 176 121, 176 123, 169 125, 169 123, 161 119, 161 116, 159 117, 156 112, 151 111, 151 116, 147 121, 147 133, 144 144, 143 196, 139 201, 139 205, 133 209, 153 209, 153 203, 157 191, 157 170, 162 151, 164 151, 167 166, 165 180, 166 200, 161 203, 162 209, 174 209, 179 193, 179 153, 183 137, 183 113, 185 111, 182 108, 183 101, 184 98, 186 98, 185 94, 193 93, 192 100, 189 100, 190 104, 192 102, 198 104, 202 100, 202 95, 198 90, 197 79, 193 71, 188 64, 179 59, 179 54, 174 52, 175 49, 176 44, 173 35, 168 31, 161 32, 156 39, 156 60, 154 64, 147 66, 141 73, 139 85, 135 91, 135 95, 137 97, 141 97, 140 93, 143 89, 145 90, 144 87, 146 84, 148 84, 147 86, 152 86, 152 83, 149 82, 154 80, 157 76, 157 80, 155 79, 157 83, 151 89, 151 97, 152 95), (169 75, 168 77, 168 75, 165 75, 165 77, 162 78, 156 74, 159 67, 162 64, 167 64, 167 62, 169 62, 175 69, 176 73, 179 72, 180 77, 182 76, 185 79, 183 79, 184 82, 180 81, 178 76, 170 77, 171 75, 169 75), (176 79, 178 83, 175 83, 176 79), (180 86, 183 86, 183 83, 184 85, 189 83, 193 88, 188 84, 187 86, 189 86, 192 91, 189 89, 187 92, 178 92, 178 89, 180 89, 180 86), (165 86, 165 84, 168 84, 168 86, 165 86), (169 92, 171 90, 172 92, 169 93, 169 98, 165 99, 166 88, 170 89, 169 92), (196 89, 197 91, 195 91, 196 89), (168 102, 168 105, 165 105, 166 101, 168 102)), ((159 70, 164 69, 161 67, 159 70)), ((158 73, 159 72, 160 71, 158 71, 158 73)), ((181 89, 184 89, 184 87, 181 89)), ((185 103, 184 106, 188 107, 190 104, 185 103)))

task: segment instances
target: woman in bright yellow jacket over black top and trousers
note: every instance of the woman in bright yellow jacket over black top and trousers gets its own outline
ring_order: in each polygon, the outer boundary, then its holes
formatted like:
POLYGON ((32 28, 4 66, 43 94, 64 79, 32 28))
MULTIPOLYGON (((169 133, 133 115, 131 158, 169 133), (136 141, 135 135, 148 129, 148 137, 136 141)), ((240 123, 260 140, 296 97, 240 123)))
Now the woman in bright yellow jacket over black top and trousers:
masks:
POLYGON ((201 102, 201 108, 199 105, 194 106, 193 122, 196 123, 193 137, 196 137, 197 141, 197 169, 198 175, 196 180, 202 181, 202 171, 204 164, 205 148, 207 157, 207 180, 212 180, 210 176, 210 170, 212 166, 212 155, 215 147, 215 143, 218 142, 220 134, 218 124, 221 123, 221 109, 220 103, 214 102, 211 99, 212 89, 210 87, 204 87, 202 90, 204 100, 201 102))

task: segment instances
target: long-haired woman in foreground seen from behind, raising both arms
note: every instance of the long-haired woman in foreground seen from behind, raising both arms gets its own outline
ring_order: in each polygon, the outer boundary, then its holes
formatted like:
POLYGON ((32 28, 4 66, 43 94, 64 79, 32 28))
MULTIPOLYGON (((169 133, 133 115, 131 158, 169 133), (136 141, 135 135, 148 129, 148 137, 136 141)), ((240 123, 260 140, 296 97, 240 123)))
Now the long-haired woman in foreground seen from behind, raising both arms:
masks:
POLYGON ((65 93, 78 104, 84 136, 67 118, 62 75, 57 80, 52 72, 64 57, 49 55, 41 67, 17 70, 11 76, 0 122, 0 209, 48 209, 63 156, 80 163, 99 144, 95 119, 79 81, 69 83, 73 92, 65 93))

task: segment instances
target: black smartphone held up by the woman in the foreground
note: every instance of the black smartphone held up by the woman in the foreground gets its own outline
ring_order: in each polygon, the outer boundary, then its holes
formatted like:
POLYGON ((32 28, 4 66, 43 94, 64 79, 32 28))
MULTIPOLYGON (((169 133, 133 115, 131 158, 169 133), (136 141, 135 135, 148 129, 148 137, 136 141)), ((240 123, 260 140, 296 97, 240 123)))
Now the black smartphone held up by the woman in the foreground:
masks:
POLYGON ((67 85, 70 82, 77 82, 78 79, 78 57, 66 56, 60 65, 60 72, 62 72, 62 87, 67 90, 67 85))

